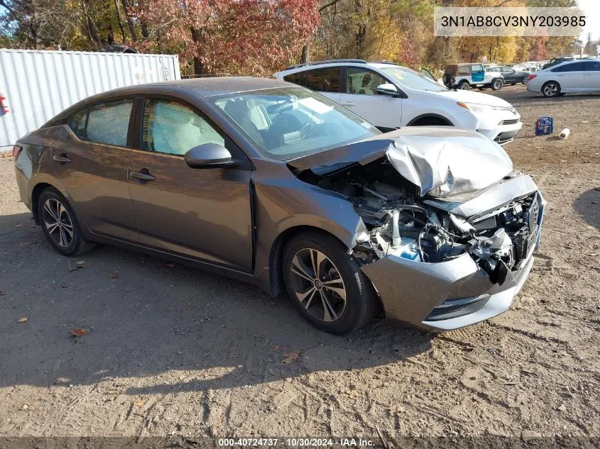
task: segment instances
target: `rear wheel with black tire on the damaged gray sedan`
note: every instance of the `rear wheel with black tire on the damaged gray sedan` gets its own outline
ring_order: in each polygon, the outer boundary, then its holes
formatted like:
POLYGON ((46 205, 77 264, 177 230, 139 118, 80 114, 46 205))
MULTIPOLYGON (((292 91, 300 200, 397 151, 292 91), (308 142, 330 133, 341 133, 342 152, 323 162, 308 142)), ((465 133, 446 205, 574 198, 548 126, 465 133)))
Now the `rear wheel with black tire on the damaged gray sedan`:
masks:
POLYGON ((58 253, 76 256, 94 248, 95 243, 83 237, 69 201, 53 187, 44 189, 40 194, 38 217, 46 238, 58 253), (57 216, 60 217, 60 224, 53 226, 57 216))

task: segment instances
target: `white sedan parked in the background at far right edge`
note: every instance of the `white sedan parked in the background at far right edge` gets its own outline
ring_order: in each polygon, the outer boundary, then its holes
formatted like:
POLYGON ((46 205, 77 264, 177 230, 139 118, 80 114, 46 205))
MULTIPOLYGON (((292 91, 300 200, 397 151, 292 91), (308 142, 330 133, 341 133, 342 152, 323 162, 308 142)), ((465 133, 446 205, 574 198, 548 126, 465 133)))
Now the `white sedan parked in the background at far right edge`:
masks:
POLYGON ((550 97, 574 92, 600 92, 600 60, 562 62, 532 73, 527 90, 550 97))

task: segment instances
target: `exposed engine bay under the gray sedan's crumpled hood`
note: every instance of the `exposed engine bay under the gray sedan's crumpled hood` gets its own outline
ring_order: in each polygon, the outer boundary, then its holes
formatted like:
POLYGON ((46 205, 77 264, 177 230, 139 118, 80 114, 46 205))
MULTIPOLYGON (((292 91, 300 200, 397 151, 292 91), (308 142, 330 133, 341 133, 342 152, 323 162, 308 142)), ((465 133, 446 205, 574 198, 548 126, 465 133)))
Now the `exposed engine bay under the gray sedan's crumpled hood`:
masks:
MULTIPOLYGON (((304 180, 338 194, 354 205, 369 230, 368 241, 356 245, 354 256, 363 264, 388 255, 414 262, 437 263, 469 253, 494 284, 503 284, 535 247, 538 235, 538 194, 476 216, 461 217, 427 204, 414 184, 398 176, 385 158, 351 165, 304 180)), ((452 200, 451 198, 447 200, 452 200)))

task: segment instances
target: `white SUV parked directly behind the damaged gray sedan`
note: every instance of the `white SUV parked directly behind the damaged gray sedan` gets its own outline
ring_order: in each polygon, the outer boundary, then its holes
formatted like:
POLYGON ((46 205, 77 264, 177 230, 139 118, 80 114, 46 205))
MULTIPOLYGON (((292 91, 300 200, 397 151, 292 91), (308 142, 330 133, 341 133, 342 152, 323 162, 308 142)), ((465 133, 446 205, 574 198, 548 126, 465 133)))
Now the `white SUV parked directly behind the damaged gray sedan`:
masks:
POLYGON ((388 62, 310 62, 288 67, 273 77, 315 90, 381 131, 400 126, 457 126, 504 144, 523 127, 519 113, 503 99, 447 89, 414 70, 388 62))

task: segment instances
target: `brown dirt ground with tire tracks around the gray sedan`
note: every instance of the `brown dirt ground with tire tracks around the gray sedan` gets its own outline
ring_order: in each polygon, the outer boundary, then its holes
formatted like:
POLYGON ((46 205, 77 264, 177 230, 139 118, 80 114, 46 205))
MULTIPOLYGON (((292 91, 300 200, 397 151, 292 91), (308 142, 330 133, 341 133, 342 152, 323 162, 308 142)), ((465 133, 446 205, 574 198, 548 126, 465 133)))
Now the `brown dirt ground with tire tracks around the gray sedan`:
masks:
POLYGON ((506 149, 548 201, 542 243, 511 311, 448 333, 330 336, 255 287, 107 246, 70 271, 0 157, 0 436, 599 437, 600 95, 496 94, 523 116, 506 149), (567 140, 533 137, 546 115, 567 140))

